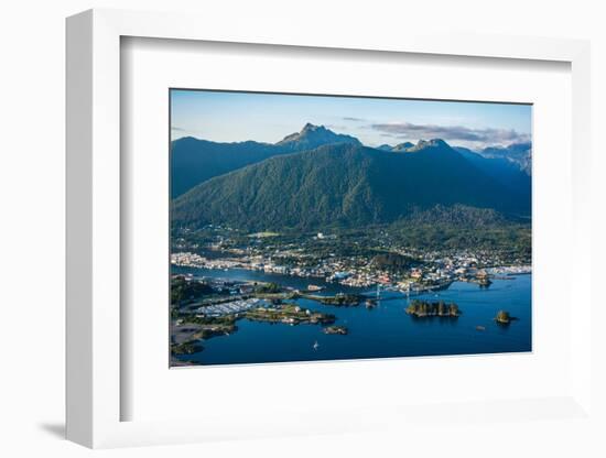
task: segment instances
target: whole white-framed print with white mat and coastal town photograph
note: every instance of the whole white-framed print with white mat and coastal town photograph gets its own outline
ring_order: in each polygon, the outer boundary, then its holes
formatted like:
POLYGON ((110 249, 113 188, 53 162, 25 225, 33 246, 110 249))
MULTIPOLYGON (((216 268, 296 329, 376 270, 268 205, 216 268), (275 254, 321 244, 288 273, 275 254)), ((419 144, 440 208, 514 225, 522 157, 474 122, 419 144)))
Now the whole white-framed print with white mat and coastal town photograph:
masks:
POLYGON ((594 428, 588 44, 235 29, 67 20, 67 437, 594 428))

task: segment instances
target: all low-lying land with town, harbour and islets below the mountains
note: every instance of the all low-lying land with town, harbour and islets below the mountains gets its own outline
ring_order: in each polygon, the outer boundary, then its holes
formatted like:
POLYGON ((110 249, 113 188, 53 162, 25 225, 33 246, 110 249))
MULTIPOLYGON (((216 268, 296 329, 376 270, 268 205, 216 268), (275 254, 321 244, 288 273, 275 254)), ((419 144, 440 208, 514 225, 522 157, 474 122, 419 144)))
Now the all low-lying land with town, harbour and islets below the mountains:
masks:
MULTIPOLYGON (((236 332, 242 319, 320 325, 325 335, 349 334, 347 326, 335 325, 334 315, 302 306, 300 299, 331 308, 365 305, 371 310, 379 301, 439 293, 454 282, 488 288, 495 279, 531 273, 530 260, 508 249, 421 250, 380 231, 244 235, 213 227, 202 235, 184 235, 175 238, 171 253, 171 349, 175 358, 202 351, 202 342, 209 338, 236 332), (221 272, 210 275, 197 269, 262 275, 229 280, 221 272), (305 282, 289 286, 284 276, 305 282), (329 284, 339 285, 338 292, 323 292, 329 284)), ((405 313, 414 319, 453 319, 461 314, 454 303, 411 301, 405 313)))

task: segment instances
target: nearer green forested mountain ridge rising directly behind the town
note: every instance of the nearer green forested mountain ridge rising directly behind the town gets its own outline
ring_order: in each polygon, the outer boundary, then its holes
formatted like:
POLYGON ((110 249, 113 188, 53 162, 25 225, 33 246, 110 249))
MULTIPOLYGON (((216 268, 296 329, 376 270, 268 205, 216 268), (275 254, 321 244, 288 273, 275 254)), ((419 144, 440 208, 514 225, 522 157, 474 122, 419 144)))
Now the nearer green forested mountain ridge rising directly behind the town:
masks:
POLYGON ((336 143, 214 177, 175 199, 172 217, 181 227, 311 230, 389 223, 435 205, 527 214, 529 198, 442 140, 419 142, 414 154, 336 143))

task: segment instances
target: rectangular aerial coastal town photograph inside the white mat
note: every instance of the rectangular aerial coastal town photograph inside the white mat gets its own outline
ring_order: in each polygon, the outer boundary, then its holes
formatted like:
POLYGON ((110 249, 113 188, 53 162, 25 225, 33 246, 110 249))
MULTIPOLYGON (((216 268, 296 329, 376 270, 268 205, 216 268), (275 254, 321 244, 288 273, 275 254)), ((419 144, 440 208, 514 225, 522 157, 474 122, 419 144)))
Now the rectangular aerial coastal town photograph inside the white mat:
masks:
POLYGON ((532 351, 532 105, 171 88, 170 367, 532 351))

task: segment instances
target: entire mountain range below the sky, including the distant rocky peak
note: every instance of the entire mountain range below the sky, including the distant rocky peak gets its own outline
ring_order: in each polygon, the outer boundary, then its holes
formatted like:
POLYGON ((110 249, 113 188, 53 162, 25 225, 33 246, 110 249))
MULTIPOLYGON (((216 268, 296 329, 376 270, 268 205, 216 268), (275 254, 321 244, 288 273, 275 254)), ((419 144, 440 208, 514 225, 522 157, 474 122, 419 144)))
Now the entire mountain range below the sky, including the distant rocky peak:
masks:
MULTIPOLYGON (((502 155, 485 157, 440 139, 372 149, 312 124, 275 144, 186 138, 173 142, 172 149, 172 181, 181 184, 186 181, 180 176, 183 167, 174 167, 175 151, 176 162, 186 155, 190 164, 206 165, 195 177, 199 184, 173 200, 172 222, 177 227, 360 227, 394 222, 436 207, 441 215, 448 208, 530 215, 526 171, 502 155), (197 150, 196 142, 202 142, 197 150)), ((193 175, 187 175, 190 184, 193 175)))

